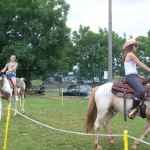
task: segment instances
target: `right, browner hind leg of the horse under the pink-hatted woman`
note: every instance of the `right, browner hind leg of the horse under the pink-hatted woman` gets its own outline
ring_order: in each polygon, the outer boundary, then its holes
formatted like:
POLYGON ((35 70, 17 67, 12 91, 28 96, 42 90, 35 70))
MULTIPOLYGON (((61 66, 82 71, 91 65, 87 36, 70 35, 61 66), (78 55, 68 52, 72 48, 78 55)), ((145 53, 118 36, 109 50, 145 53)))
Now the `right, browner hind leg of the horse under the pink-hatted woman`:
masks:
MULTIPOLYGON (((110 109, 103 120, 103 127, 104 127, 106 133, 110 134, 110 135, 112 133, 108 127, 108 124, 109 124, 110 120, 114 117, 115 114, 116 113, 114 113, 114 111, 112 109, 110 109)), ((110 146, 114 146, 114 137, 108 136, 108 142, 109 142, 110 146)))

